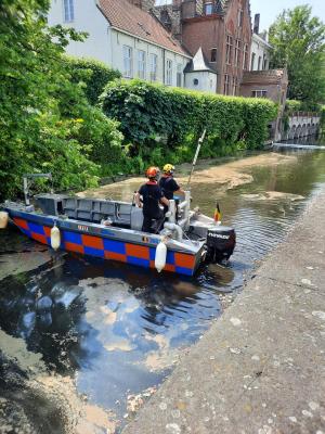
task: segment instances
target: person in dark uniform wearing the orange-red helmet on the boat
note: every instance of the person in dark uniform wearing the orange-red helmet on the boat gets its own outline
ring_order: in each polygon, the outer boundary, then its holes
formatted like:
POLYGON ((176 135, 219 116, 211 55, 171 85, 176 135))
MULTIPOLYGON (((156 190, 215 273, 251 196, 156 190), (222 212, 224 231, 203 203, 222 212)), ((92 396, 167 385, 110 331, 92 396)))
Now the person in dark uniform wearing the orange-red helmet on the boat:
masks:
POLYGON ((150 167, 146 170, 148 181, 140 187, 135 194, 135 203, 143 208, 143 232, 158 233, 165 218, 165 214, 159 204, 168 208, 169 201, 165 197, 158 186, 159 169, 150 167), (142 200, 141 200, 142 199, 142 200))

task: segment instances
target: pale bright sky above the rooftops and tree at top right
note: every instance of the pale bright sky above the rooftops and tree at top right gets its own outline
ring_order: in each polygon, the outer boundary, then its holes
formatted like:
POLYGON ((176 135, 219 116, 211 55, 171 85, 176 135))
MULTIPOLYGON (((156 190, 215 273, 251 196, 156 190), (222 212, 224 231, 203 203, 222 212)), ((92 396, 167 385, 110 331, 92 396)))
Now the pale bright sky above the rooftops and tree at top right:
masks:
MULTIPOLYGON (((156 0, 157 4, 170 3, 170 0, 156 0)), ((313 14, 325 22, 325 0, 250 0, 251 15, 261 14, 261 30, 268 29, 284 9, 292 9, 298 4, 310 4, 313 14)))

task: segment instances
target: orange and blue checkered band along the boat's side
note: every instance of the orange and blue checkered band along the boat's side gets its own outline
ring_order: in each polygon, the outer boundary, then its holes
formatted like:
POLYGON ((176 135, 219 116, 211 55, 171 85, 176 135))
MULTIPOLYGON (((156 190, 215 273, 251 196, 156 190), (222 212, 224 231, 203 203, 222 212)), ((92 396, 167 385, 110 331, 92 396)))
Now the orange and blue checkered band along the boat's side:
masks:
MULTIPOLYGON (((22 218, 14 218, 13 220, 27 237, 42 244, 51 245, 50 227, 22 218)), ((145 245, 61 230, 61 248, 140 267, 155 268, 156 248, 145 245)), ((195 271, 195 256, 169 251, 167 253, 165 271, 193 276, 195 271)))

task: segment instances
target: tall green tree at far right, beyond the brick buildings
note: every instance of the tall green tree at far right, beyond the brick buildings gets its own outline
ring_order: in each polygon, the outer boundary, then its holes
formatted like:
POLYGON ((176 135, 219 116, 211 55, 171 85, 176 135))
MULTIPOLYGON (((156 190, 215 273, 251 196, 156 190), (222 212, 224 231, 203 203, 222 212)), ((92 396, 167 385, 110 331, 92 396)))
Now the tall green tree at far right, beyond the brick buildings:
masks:
POLYGON ((325 26, 309 5, 285 10, 270 27, 273 67, 287 67, 288 98, 314 108, 325 101, 325 26))

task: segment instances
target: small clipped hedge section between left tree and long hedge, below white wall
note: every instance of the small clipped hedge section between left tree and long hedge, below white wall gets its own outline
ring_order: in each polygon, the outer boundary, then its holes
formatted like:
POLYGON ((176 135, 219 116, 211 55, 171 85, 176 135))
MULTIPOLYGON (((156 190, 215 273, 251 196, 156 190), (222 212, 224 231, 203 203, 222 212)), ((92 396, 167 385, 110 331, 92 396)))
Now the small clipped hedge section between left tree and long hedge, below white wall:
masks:
POLYGON ((66 56, 65 62, 73 82, 83 84, 86 97, 93 105, 98 103, 107 82, 121 77, 119 71, 95 60, 66 56))

